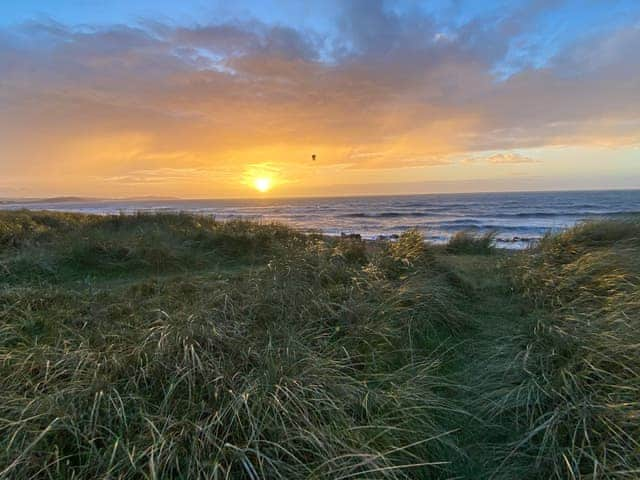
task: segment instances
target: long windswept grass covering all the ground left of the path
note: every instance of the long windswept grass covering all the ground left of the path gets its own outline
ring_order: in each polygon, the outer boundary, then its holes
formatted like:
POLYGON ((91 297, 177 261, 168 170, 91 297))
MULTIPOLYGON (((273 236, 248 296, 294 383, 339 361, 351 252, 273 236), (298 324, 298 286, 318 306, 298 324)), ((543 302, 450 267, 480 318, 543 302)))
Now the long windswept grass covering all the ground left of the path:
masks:
POLYGON ((388 264, 277 225, 0 217, 0 478, 446 475, 465 318, 415 234, 388 264))

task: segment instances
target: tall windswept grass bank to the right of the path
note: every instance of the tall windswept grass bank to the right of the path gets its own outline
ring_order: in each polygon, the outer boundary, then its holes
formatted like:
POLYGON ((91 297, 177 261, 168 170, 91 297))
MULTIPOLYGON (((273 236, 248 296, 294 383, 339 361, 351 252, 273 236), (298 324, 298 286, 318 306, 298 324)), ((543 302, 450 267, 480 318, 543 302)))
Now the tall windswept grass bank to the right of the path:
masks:
POLYGON ((640 222, 548 236, 518 256, 514 280, 536 309, 504 397, 528 419, 520 478, 639 478, 640 222))

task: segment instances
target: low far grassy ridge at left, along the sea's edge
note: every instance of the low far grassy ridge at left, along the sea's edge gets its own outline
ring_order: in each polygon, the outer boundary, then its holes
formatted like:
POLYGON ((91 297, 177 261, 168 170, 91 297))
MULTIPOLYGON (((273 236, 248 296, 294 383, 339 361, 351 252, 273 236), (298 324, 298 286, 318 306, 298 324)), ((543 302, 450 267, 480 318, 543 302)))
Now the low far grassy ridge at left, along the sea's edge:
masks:
POLYGON ((12 283, 206 270, 264 263, 302 237, 282 225, 187 214, 4 212, 0 269, 12 283))

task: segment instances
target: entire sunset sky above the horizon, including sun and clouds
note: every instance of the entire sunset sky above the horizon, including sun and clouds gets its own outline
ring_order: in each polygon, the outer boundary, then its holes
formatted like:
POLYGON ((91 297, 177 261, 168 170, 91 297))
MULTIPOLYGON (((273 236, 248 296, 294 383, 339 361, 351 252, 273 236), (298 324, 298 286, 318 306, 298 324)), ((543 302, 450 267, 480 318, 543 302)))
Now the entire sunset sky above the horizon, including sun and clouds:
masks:
POLYGON ((0 0, 0 197, 640 188, 639 51, 637 0, 0 0))

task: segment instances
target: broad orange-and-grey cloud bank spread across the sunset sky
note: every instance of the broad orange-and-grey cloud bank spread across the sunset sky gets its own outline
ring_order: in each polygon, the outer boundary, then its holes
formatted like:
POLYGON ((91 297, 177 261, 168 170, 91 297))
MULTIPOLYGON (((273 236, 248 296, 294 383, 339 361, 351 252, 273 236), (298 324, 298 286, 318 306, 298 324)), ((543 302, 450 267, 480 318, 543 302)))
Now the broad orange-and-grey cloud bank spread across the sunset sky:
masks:
POLYGON ((312 152, 323 167, 388 171, 480 151, 637 144, 636 26, 585 36, 542 68, 495 77, 513 39, 556 3, 451 27, 416 8, 352 1, 341 4, 331 38, 258 20, 6 28, 3 174, 55 168, 160 183, 149 172, 242 178, 248 165, 276 162, 285 176, 307 168, 312 152))

